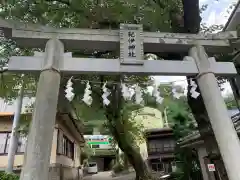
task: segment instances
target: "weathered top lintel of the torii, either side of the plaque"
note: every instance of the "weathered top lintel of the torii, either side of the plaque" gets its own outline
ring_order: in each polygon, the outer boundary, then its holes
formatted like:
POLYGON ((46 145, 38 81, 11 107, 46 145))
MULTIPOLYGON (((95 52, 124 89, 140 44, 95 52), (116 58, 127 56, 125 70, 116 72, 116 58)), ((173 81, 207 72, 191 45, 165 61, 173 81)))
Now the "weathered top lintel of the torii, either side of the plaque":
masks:
MULTIPOLYGON (((53 28, 37 24, 26 24, 0 18, 2 35, 14 39, 20 46, 44 48, 52 37, 60 39, 65 50, 109 50, 119 49, 119 30, 53 28)), ((142 32, 144 52, 187 52, 196 42, 207 52, 230 50, 230 41, 237 38, 235 31, 217 34, 178 34, 142 32)))

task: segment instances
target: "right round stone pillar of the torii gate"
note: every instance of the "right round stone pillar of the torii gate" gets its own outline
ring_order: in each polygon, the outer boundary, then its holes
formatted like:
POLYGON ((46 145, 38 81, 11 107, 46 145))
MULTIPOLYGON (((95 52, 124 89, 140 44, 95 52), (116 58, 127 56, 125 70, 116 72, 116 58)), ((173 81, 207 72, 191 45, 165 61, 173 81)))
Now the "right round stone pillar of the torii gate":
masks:
POLYGON ((240 180, 240 141, 217 79, 212 73, 208 56, 204 47, 198 45, 190 49, 189 55, 194 58, 199 70, 197 82, 229 180, 240 180))

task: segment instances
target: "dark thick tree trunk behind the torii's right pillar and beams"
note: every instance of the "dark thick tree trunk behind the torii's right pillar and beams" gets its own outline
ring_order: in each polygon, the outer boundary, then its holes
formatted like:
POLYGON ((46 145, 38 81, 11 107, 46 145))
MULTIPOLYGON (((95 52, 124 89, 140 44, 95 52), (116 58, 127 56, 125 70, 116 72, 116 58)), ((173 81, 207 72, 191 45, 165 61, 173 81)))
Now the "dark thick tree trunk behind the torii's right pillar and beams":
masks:
MULTIPOLYGON (((182 3, 184 10, 183 33, 198 33, 200 31, 201 22, 199 0, 182 0, 182 3)), ((192 77, 187 78, 190 79, 192 77)), ((188 90, 190 89, 190 81, 188 80, 188 90)), ((197 91, 200 92, 199 88, 197 91)), ((190 93, 188 93, 188 104, 192 110, 194 118, 196 119, 198 130, 204 140, 208 154, 220 155, 202 96, 200 95, 197 99, 194 99, 190 96, 190 93)))

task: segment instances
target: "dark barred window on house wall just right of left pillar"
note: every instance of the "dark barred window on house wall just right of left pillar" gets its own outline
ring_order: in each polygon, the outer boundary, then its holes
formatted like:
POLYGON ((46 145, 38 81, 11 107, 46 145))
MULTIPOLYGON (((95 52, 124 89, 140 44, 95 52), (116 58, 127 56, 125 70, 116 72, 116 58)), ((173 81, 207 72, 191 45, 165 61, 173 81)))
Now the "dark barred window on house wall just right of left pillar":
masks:
POLYGON ((74 159, 74 143, 70 141, 65 135, 62 135, 61 137, 62 138, 60 138, 60 136, 58 135, 58 154, 74 159))

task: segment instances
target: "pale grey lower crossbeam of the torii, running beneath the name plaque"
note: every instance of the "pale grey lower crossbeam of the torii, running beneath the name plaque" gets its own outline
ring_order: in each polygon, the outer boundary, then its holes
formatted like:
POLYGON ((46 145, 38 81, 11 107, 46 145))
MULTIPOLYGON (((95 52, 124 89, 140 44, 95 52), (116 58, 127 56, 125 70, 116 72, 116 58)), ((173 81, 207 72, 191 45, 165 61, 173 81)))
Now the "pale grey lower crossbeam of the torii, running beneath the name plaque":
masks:
MULTIPOLYGON (((13 56, 9 70, 15 72, 40 72, 44 57, 13 56)), ((127 59, 125 59, 128 61, 127 59)), ((130 60, 129 60, 130 61, 130 60)), ((64 57, 59 70, 66 74, 135 74, 194 76, 199 74, 194 60, 138 60, 141 65, 124 65, 119 59, 64 57)), ((231 62, 216 62, 210 58, 212 71, 218 76, 234 76, 237 71, 231 62)))

